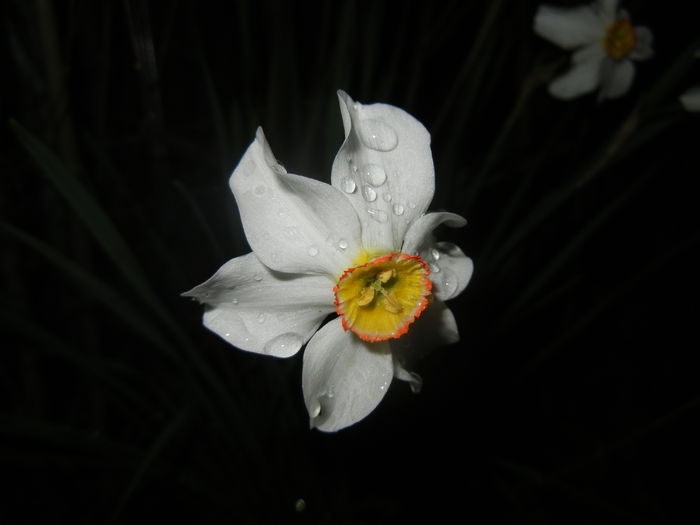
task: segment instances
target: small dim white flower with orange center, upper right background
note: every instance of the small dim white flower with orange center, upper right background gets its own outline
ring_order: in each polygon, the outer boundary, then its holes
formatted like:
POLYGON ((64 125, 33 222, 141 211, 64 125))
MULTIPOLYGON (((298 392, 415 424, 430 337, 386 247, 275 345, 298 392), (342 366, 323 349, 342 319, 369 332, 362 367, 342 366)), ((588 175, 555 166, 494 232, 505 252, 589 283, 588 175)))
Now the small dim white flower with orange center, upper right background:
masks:
POLYGON ((599 89, 598 99, 617 98, 634 80, 633 61, 653 54, 651 31, 633 26, 618 0, 598 0, 574 8, 541 5, 535 32, 574 51, 571 67, 549 84, 552 96, 572 99, 599 89))

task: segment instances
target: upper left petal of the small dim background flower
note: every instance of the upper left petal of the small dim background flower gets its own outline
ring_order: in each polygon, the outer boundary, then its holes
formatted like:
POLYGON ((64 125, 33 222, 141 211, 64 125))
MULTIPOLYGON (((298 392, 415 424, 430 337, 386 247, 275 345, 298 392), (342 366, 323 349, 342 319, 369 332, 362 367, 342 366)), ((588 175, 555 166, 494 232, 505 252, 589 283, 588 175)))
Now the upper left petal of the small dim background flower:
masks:
POLYGON ((535 14, 535 33, 564 49, 599 42, 605 24, 592 6, 562 8, 541 5, 535 14))

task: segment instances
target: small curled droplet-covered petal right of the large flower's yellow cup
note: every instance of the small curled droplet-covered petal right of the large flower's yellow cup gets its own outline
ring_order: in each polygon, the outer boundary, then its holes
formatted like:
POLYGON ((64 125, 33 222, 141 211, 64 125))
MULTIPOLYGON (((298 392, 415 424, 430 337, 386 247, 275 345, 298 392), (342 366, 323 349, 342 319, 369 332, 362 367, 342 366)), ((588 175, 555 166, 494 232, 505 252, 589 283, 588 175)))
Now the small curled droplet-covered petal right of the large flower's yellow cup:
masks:
POLYGON ((474 273, 474 263, 456 244, 430 244, 420 255, 428 263, 433 295, 440 301, 457 297, 469 284, 474 273))

